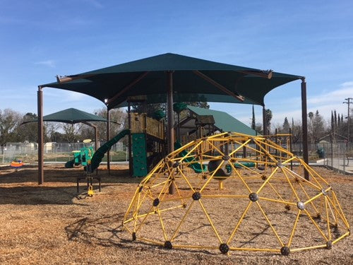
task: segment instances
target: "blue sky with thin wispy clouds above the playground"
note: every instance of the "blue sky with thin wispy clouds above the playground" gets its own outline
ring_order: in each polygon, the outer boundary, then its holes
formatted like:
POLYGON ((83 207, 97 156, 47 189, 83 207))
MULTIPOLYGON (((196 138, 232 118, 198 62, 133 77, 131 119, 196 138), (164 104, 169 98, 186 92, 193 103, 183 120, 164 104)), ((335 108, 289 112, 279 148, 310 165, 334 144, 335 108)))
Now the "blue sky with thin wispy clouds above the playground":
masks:
MULTIPOLYGON (((353 97, 352 10, 349 0, 0 0, 0 110, 37 113, 37 86, 58 74, 172 52, 306 76, 308 111, 330 119, 353 97)), ((273 124, 301 119, 300 96, 300 81, 266 95, 273 124)), ((251 122, 251 105, 210 105, 251 122)), ((104 105, 44 88, 44 114, 68 107, 104 105)))

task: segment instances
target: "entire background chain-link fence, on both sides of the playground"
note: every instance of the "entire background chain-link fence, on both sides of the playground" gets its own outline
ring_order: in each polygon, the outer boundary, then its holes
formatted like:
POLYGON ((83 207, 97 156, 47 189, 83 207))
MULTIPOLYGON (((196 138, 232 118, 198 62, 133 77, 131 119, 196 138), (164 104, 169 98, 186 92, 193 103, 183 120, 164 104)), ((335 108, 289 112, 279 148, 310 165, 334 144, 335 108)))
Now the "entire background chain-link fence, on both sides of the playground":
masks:
MULTIPOLYGON (((103 144, 102 142, 101 144, 103 144)), ((94 143, 45 143, 44 162, 66 163, 73 159, 73 151, 83 147, 94 146, 94 143)), ((37 163, 37 143, 7 143, 0 147, 0 164, 8 165, 13 160, 23 160, 24 163, 37 163)), ((301 143, 292 144, 292 153, 299 157, 303 155, 301 143)), ((107 161, 107 155, 103 162, 107 161)), ((118 142, 112 146, 110 161, 128 161, 128 147, 118 142)), ((353 143, 311 143, 309 144, 309 163, 323 165, 347 174, 353 173, 353 143)))

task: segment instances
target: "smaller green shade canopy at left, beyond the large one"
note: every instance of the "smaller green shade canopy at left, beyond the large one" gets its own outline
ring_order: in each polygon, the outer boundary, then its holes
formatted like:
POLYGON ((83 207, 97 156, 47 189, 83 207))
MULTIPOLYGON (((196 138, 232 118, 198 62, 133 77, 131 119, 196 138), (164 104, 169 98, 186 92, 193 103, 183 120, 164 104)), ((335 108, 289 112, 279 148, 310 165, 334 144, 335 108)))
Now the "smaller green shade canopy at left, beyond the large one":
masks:
MULTIPOLYGON (((82 110, 74 109, 73 107, 67 110, 61 110, 59 112, 54 112, 52 114, 45 115, 43 117, 44 122, 64 122, 68 124, 76 124, 79 122, 107 122, 107 119, 97 116, 95 114, 90 114, 82 110)), ((37 119, 23 122, 23 124, 28 122, 37 122, 37 119)))

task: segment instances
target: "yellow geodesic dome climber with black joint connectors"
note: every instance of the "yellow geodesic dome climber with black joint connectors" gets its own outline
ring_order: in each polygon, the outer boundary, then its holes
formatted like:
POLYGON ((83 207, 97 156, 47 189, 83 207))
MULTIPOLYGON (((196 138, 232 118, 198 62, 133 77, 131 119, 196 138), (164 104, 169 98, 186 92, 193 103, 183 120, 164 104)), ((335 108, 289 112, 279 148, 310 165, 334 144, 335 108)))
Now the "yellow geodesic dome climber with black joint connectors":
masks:
POLYGON ((268 138, 237 133, 167 155, 138 185, 123 228, 133 240, 167 249, 223 254, 330 249, 349 235, 323 177, 268 138))

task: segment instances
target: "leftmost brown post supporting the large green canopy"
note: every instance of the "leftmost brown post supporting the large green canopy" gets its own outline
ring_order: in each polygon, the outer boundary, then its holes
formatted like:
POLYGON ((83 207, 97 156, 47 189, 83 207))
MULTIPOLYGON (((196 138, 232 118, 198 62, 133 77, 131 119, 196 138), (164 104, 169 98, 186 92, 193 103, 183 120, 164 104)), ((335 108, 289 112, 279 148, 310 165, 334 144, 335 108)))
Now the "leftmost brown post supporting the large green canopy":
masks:
POLYGON ((41 86, 38 86, 37 110, 38 110, 38 184, 43 184, 44 182, 43 92, 42 92, 41 86))

